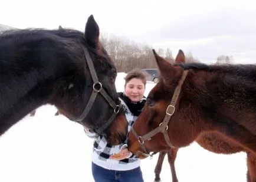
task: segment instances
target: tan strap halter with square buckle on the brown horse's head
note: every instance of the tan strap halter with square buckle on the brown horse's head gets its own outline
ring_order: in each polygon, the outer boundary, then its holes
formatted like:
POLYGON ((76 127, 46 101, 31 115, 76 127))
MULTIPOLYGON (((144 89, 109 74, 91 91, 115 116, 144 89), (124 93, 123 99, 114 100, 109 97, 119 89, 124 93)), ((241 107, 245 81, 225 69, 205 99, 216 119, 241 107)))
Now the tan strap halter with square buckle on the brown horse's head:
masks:
POLYGON ((176 89, 175 89, 175 91, 173 93, 172 100, 170 101, 170 105, 166 109, 165 118, 163 119, 163 122, 160 123, 159 126, 156 129, 154 129, 151 132, 145 134, 144 136, 139 136, 135 132, 133 127, 131 127, 132 133, 136 137, 137 141, 139 141, 140 147, 142 147, 142 150, 144 152, 142 154, 144 156, 151 156, 152 157, 152 155, 155 154, 155 153, 149 154, 147 152, 146 147, 144 145, 144 142, 147 141, 147 140, 150 140, 151 137, 155 136, 157 133, 163 133, 163 136, 165 137, 165 141, 168 144, 168 146, 169 147, 173 147, 173 144, 170 142, 170 138, 169 138, 169 134, 168 134, 168 123, 170 121, 170 118, 172 117, 172 115, 175 112, 175 106, 176 106, 176 103, 177 103, 177 101, 179 99, 180 90, 181 90, 183 82, 184 82, 184 80, 186 78, 186 75, 188 75, 188 70, 184 70, 183 71, 182 77, 180 78, 179 83, 176 86, 176 89))

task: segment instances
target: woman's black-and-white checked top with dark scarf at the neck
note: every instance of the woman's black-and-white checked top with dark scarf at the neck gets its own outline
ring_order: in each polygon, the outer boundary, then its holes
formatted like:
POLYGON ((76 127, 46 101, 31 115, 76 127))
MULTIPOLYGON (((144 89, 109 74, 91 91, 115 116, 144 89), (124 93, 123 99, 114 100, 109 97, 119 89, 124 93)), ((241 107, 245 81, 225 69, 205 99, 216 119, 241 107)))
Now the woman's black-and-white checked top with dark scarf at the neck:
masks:
MULTIPOLYGON (((126 119, 128 121, 129 132, 130 127, 137 119, 137 116, 145 105, 146 98, 144 97, 140 102, 133 103, 130 101, 130 99, 128 99, 128 97, 124 96, 123 93, 119 93, 119 96, 124 113, 126 114, 126 119)), ((132 170, 133 168, 140 166, 140 160, 134 155, 130 156, 128 159, 123 159, 120 161, 109 159, 112 154, 119 153, 119 151, 122 149, 122 146, 125 145, 124 143, 117 146, 110 146, 103 136, 97 136, 94 133, 88 133, 88 131, 86 131, 86 133, 89 137, 94 137, 92 153, 93 163, 109 170, 119 171, 132 170)))

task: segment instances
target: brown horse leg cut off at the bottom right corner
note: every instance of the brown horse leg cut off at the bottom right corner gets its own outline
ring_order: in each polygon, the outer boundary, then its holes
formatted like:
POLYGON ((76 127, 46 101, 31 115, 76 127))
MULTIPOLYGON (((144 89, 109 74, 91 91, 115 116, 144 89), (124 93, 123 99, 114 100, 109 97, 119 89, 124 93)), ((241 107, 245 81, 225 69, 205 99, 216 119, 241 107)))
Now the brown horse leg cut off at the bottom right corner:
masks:
POLYGON ((256 182, 256 154, 247 152, 247 181, 256 182))

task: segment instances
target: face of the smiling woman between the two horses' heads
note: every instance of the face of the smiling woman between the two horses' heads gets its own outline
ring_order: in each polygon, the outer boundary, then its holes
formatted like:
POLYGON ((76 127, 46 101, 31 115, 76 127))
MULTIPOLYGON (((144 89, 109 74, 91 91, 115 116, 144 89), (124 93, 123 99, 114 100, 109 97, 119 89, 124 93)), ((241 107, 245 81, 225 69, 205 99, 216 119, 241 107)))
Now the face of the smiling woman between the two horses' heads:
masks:
POLYGON ((124 86, 124 94, 129 97, 132 102, 142 100, 145 92, 145 85, 141 79, 133 78, 124 86))

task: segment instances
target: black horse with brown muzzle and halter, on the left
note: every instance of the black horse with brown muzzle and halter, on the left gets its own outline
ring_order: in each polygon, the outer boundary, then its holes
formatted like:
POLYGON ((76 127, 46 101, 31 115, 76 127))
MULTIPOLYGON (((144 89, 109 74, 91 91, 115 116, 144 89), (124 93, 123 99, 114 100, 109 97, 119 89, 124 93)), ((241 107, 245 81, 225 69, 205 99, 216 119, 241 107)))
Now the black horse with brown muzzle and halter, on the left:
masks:
POLYGON ((0 135, 47 103, 68 119, 121 143, 127 121, 114 85, 116 68, 89 16, 85 33, 24 29, 0 35, 0 135))

